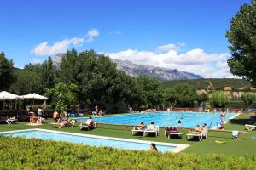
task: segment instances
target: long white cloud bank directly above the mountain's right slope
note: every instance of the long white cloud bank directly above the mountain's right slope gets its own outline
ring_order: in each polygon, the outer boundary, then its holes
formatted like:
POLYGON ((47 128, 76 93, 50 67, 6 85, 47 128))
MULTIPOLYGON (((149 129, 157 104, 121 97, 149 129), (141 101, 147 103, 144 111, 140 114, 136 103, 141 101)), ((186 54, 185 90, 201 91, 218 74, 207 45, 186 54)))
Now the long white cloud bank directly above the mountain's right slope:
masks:
POLYGON ((160 49, 161 53, 127 49, 117 53, 109 53, 108 55, 112 59, 130 60, 138 65, 154 65, 179 71, 189 71, 206 78, 234 77, 227 65, 227 59, 230 54, 207 54, 200 48, 178 54, 178 49, 183 46, 184 44, 162 45, 156 48, 160 49))

